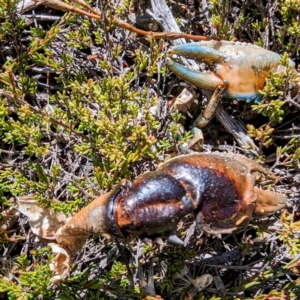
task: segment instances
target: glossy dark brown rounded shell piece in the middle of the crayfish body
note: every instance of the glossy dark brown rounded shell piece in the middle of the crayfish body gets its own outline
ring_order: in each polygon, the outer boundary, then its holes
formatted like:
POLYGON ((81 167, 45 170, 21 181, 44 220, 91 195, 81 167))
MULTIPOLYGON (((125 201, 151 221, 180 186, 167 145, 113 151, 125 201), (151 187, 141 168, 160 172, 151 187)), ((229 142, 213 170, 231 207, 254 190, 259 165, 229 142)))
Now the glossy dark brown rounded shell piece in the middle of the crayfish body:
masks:
POLYGON ((196 204, 183 185, 163 172, 147 172, 127 183, 114 206, 114 220, 126 235, 167 236, 196 204))

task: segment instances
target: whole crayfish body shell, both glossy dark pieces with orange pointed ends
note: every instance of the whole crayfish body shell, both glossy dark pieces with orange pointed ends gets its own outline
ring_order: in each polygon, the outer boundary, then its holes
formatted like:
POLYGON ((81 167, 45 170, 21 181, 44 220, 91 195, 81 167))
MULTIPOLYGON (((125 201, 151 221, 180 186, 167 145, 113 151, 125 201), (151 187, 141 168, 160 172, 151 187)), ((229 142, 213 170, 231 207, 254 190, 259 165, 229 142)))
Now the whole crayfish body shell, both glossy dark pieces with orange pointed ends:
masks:
POLYGON ((84 209, 81 230, 122 239, 163 236, 182 244, 176 226, 184 216, 194 214, 201 230, 230 233, 253 216, 286 205, 284 195, 255 187, 254 171, 269 173, 239 155, 196 153, 173 158, 157 171, 123 181, 105 198, 96 199, 100 205, 91 202, 84 209))

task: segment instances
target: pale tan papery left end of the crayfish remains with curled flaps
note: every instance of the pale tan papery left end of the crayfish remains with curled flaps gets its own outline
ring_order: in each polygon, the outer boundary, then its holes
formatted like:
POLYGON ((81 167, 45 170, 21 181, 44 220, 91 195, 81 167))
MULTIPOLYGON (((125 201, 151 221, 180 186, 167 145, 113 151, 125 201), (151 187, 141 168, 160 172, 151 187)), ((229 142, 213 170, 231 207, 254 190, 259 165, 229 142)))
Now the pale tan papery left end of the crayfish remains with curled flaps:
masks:
POLYGON ((90 234, 105 235, 106 224, 101 218, 101 212, 106 212, 109 195, 107 193, 96 198, 72 218, 53 212, 50 208, 40 207, 32 195, 18 198, 18 209, 28 217, 32 232, 58 243, 49 244, 52 252, 57 253, 50 264, 50 269, 55 274, 51 279, 52 283, 58 283, 69 276, 74 255, 90 234))

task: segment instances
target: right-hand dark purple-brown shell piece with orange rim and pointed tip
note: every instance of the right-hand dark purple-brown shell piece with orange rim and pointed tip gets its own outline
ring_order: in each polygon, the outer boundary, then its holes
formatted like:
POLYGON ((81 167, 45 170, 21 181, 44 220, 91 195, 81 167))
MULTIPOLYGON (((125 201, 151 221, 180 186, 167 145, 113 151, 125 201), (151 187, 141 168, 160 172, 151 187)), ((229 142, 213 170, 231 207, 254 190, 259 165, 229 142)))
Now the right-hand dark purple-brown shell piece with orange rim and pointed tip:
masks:
MULTIPOLYGON (((230 233, 247 223, 256 208, 256 200, 272 212, 285 205, 286 198, 273 192, 258 192, 254 188, 252 171, 267 173, 259 164, 240 155, 195 153, 173 158, 158 168, 179 180, 188 195, 197 203, 197 221, 201 228, 212 234, 230 233), (267 197, 273 196, 273 203, 267 197), (259 197, 257 197, 259 195, 259 197)), ((270 211, 269 211, 270 212, 270 211)))

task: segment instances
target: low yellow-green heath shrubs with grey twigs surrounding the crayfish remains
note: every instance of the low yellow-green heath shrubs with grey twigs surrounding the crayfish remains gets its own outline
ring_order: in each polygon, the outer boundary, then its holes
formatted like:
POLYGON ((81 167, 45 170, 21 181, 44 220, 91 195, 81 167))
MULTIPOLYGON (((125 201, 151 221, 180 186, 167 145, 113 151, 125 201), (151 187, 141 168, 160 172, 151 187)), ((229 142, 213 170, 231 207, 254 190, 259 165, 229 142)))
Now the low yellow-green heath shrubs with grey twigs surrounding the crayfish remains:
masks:
MULTIPOLYGON (((135 36, 116 27, 112 18, 131 23, 141 3, 104 1, 103 21, 52 10, 56 21, 39 22, 18 14, 17 2, 0 0, 0 213, 28 194, 43 207, 75 213, 123 178, 154 170, 179 153, 191 133, 189 124, 183 124, 182 133, 181 116, 171 101, 181 87, 165 64, 170 42, 135 36)), ((237 38, 282 54, 285 69, 270 74, 261 91, 262 102, 252 108, 244 103, 230 108, 231 103, 225 102, 234 117, 254 114, 244 123, 259 148, 257 159, 269 163, 273 171, 279 169, 275 175, 282 191, 295 191, 289 194, 291 205, 281 216, 282 226, 274 225, 269 232, 257 223, 248 236, 238 233, 225 239, 198 236, 186 249, 169 244, 163 250, 142 247, 135 240, 113 252, 115 241, 91 237, 76 257, 71 276, 53 285, 49 263, 54 256, 47 243, 30 232, 25 217, 19 216, 11 228, 0 226, 0 299, 161 299, 145 294, 139 284, 147 282, 149 270, 163 299, 188 299, 183 291, 190 282, 178 288, 175 281, 186 262, 196 255, 222 256, 235 248, 241 249, 242 256, 229 264, 237 262, 242 268, 219 268, 212 262, 199 267, 221 278, 226 290, 209 288, 194 299, 300 297, 299 204, 295 204, 300 180, 300 102, 299 93, 290 87, 297 74, 288 63, 288 57, 298 63, 300 59, 300 1, 280 0, 268 8, 261 1, 209 2, 209 14, 202 14, 198 4, 185 8, 173 1, 168 4, 176 18, 185 20, 178 22, 183 31, 193 28, 203 34, 195 28, 204 24, 209 35, 237 38), (202 23, 196 22, 197 16, 202 23), (245 251, 241 240, 248 243, 245 251), (112 260, 102 265, 111 252, 115 253, 112 260), (253 261, 259 272, 243 269, 243 263, 253 261)), ((36 10, 37 15, 40 12, 50 16, 46 8, 36 10)), ((208 140, 213 139, 210 132, 218 129, 204 129, 208 140)), ((4 218, 0 214, 0 222, 4 218)), ((180 225, 183 237, 190 225, 189 221, 180 225)))

